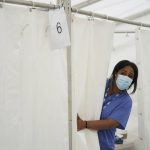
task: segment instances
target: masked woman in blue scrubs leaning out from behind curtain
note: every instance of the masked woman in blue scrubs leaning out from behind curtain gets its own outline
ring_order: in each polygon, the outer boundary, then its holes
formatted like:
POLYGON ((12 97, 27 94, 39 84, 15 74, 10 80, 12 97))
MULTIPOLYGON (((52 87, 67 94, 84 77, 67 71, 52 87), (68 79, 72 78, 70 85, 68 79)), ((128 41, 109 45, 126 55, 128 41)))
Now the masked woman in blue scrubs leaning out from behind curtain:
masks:
POLYGON ((98 131, 101 150, 115 149, 116 128, 125 129, 132 107, 127 90, 137 88, 138 68, 128 60, 116 64, 107 80, 100 120, 82 120, 77 117, 78 131, 90 129, 98 131))

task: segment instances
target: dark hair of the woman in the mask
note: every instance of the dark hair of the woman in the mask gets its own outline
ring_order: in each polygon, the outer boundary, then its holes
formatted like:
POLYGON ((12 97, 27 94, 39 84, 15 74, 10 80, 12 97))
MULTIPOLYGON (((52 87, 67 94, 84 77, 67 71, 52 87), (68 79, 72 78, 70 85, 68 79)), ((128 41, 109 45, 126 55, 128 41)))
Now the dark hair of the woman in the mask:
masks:
MULTIPOLYGON (((136 88, 137 88, 137 78, 138 78, 138 68, 137 68, 137 66, 136 66, 135 63, 130 62, 129 60, 122 60, 122 61, 118 62, 118 63, 116 64, 116 66, 114 67, 114 70, 113 70, 113 72, 112 72, 112 74, 111 74, 111 79, 114 81, 114 80, 115 80, 115 74, 116 74, 120 69, 122 69, 122 68, 124 68, 124 67, 126 67, 126 66, 132 67, 132 69, 133 69, 133 71, 134 71, 134 78, 133 78, 133 81, 132 81, 130 87, 131 87, 132 85, 134 85, 134 89, 133 89, 132 93, 135 93, 136 88)), ((130 87, 129 87, 129 88, 130 88, 130 87)))

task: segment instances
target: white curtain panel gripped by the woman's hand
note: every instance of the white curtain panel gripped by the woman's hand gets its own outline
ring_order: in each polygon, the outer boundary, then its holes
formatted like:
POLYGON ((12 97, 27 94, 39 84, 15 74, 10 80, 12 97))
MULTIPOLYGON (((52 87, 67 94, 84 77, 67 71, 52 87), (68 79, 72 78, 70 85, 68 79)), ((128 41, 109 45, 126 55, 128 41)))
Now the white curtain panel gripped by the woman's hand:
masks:
POLYGON ((77 132, 76 116, 100 118, 114 24, 76 16, 72 20, 73 150, 99 150, 97 131, 77 132))

